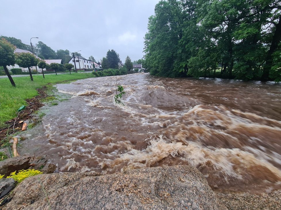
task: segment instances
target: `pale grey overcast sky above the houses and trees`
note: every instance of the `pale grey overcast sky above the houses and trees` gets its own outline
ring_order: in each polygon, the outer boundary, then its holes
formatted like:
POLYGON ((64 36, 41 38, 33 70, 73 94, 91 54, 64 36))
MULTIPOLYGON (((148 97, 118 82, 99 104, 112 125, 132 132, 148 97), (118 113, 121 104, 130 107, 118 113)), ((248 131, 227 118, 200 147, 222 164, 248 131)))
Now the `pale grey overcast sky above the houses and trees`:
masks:
POLYGON ((143 37, 159 0, 9 0, 1 2, 0 35, 23 43, 43 41, 53 50, 81 50, 100 60, 109 49, 133 60, 143 57, 143 37), (3 9, 5 8, 5 9, 3 9))

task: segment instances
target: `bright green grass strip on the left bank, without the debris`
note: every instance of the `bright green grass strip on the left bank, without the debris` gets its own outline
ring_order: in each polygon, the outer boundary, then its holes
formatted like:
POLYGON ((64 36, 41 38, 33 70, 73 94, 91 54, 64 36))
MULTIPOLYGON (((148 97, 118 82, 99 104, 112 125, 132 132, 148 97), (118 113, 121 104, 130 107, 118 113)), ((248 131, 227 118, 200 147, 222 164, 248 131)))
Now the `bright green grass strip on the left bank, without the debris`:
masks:
POLYGON ((58 75, 34 75, 34 81, 30 80, 29 76, 14 77, 16 88, 14 88, 8 78, 0 78, 0 127, 4 122, 17 116, 17 110, 22 105, 26 104, 27 98, 32 98, 37 93, 37 88, 41 88, 48 83, 59 83, 66 80, 79 80, 95 77, 93 74, 58 74, 58 75))

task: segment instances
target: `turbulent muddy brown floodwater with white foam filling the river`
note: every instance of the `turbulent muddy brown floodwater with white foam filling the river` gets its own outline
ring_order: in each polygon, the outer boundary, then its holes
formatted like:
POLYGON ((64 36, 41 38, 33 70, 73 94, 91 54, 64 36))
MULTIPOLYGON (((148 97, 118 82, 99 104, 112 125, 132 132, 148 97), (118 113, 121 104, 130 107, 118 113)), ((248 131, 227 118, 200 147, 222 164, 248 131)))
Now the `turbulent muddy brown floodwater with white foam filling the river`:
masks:
POLYGON ((155 78, 138 73, 58 84, 21 153, 47 155, 60 171, 192 165, 217 191, 281 186, 281 85, 155 78), (114 101, 114 79, 126 94, 114 101))

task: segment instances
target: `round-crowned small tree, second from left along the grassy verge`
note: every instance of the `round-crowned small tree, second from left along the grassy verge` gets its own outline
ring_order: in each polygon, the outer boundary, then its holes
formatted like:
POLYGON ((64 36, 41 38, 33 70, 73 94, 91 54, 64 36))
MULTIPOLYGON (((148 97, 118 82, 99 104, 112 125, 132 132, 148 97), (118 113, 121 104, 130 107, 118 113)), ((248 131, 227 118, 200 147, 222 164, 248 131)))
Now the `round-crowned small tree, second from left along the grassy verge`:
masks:
POLYGON ((30 80, 33 81, 30 67, 37 66, 39 59, 31 53, 20 53, 16 55, 16 63, 23 68, 28 68, 30 80))

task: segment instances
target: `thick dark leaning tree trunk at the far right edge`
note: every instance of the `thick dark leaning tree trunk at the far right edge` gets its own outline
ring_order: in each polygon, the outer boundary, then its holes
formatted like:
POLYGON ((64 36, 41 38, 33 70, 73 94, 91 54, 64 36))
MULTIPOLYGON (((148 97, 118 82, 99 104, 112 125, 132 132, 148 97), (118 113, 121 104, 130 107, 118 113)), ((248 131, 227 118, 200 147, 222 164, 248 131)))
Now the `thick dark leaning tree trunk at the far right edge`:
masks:
POLYGON ((272 68, 272 64, 273 64, 272 54, 276 51, 278 44, 280 43, 280 40, 281 40, 281 16, 279 17, 279 22, 276 25, 276 29, 272 37, 272 42, 267 52, 267 56, 265 58, 265 66, 263 68, 263 75, 261 76, 262 81, 267 81, 269 78, 269 71, 272 68))

